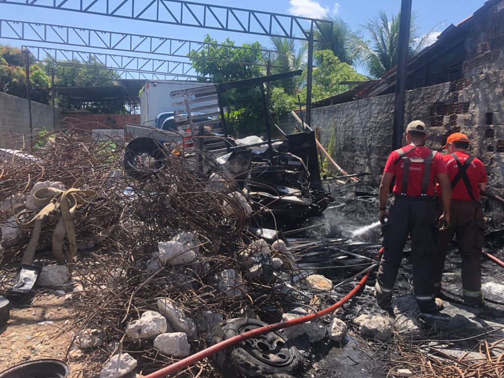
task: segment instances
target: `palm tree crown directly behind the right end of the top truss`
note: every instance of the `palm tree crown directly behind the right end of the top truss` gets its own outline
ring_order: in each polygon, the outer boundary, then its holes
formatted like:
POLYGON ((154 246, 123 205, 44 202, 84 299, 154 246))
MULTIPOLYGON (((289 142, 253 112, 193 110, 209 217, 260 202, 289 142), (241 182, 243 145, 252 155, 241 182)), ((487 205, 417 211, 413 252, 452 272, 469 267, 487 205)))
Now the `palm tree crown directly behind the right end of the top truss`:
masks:
POLYGON ((354 33, 343 19, 340 17, 326 17, 325 20, 333 22, 333 30, 331 33, 330 25, 327 23, 320 25, 320 31, 315 32, 315 38, 319 41, 315 42, 316 50, 331 50, 340 61, 353 65, 360 57, 362 38, 360 34, 354 33), (324 41, 324 35, 331 35, 331 41, 324 41))

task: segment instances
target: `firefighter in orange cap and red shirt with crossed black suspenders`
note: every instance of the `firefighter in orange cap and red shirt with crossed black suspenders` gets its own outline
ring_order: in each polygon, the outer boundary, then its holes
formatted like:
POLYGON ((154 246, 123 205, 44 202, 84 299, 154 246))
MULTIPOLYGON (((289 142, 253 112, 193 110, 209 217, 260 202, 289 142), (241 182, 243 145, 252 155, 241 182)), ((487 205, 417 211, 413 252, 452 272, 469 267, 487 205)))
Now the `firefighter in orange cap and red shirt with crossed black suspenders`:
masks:
POLYGON ((448 150, 443 159, 452 182, 453 201, 450 225, 439 233, 434 285, 440 292, 447 250, 456 235, 462 257, 464 302, 470 306, 479 306, 483 304, 481 248, 485 228, 479 192, 486 189, 488 179, 483 163, 467 153, 470 143, 467 135, 454 133, 448 137, 447 144, 443 146, 448 150))

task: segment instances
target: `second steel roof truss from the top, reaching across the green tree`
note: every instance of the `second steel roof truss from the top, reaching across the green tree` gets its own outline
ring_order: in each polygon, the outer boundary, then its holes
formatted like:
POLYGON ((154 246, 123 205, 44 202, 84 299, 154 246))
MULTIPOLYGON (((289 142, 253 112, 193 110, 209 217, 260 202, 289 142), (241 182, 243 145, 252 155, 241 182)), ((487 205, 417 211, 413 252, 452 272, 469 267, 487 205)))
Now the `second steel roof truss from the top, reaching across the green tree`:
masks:
MULTIPOLYGON (((0 20, 0 38, 32 42, 47 42, 67 46, 103 48, 107 50, 142 52, 191 58, 195 52, 209 52, 211 48, 224 47, 229 51, 260 52, 256 60, 243 61, 251 66, 283 68, 285 52, 254 49, 242 46, 224 46, 184 39, 163 38, 141 34, 118 33, 98 29, 83 29, 72 26, 40 24, 34 22, 0 20), (282 64, 278 64, 281 61, 282 64)), ((207 54, 207 60, 212 60, 207 54)), ((236 63, 236 61, 234 62, 236 63)))

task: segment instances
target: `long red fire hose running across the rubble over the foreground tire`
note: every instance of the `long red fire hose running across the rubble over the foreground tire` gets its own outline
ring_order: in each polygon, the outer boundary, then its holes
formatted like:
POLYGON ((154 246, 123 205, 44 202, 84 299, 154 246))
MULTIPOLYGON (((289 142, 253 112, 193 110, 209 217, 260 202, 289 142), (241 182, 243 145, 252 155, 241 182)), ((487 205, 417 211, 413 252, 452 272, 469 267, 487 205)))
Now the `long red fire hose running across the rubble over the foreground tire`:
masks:
MULTIPOLYGON (((384 248, 382 247, 380 249, 380 255, 383 253, 384 248)), ((149 375, 145 375, 143 378, 165 378, 168 374, 173 374, 176 373, 177 371, 183 369, 184 367, 190 366, 195 364, 196 362, 210 357, 211 355, 229 348, 230 346, 233 346, 235 344, 238 344, 242 341, 254 338, 259 335, 264 335, 268 332, 272 331, 277 331, 281 330, 284 328, 289 328, 289 327, 294 327, 294 326, 299 326, 300 324, 316 320, 320 317, 323 317, 327 315, 328 313, 331 313, 335 311, 338 307, 341 307, 345 302, 347 302, 350 298, 352 298, 357 291, 366 283, 367 279, 369 278, 369 275, 371 274, 372 269, 369 269, 367 273, 364 275, 364 277, 361 278, 359 283, 350 291, 345 297, 340 299, 338 302, 333 304, 332 306, 327 307, 326 309, 323 309, 322 311, 319 311, 317 313, 311 313, 309 315, 306 315, 301 318, 296 318, 296 319, 291 319, 286 322, 280 322, 280 323, 275 323, 271 324, 269 326, 264 326, 261 328, 257 328, 252 331, 248 331, 245 333, 242 333, 240 335, 231 337, 227 340, 221 341, 218 344, 212 345, 211 347, 208 347, 206 349, 203 349, 202 351, 193 354, 192 356, 186 357, 183 360, 180 360, 178 362, 175 362, 171 365, 168 365, 166 367, 163 367, 162 369, 159 369, 157 371, 154 371, 150 373, 149 375)))

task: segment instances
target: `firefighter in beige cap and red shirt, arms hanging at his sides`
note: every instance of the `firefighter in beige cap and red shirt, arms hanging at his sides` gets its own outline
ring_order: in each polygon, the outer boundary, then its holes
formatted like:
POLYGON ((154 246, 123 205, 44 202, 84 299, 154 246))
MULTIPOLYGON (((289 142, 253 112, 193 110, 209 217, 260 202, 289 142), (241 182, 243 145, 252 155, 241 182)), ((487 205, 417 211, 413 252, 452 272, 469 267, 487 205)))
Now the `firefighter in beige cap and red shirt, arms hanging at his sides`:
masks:
POLYGON ((450 223, 452 189, 442 155, 425 147, 426 139, 425 123, 419 120, 409 123, 406 128, 408 145, 390 154, 380 184, 380 222, 385 250, 376 277, 375 295, 384 309, 391 306, 392 289, 408 235, 411 236, 413 286, 418 307, 425 313, 443 309, 443 302, 434 296, 432 279, 432 263, 437 254, 435 179, 443 187, 445 212, 440 223, 444 223, 444 227, 450 223), (394 177, 394 199, 387 212, 387 198, 394 177))

